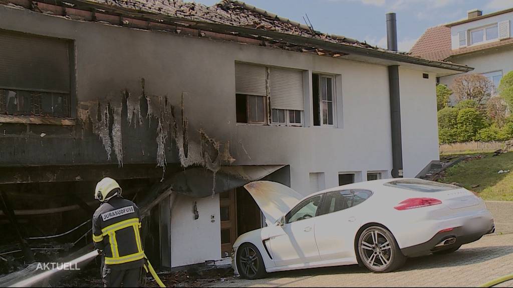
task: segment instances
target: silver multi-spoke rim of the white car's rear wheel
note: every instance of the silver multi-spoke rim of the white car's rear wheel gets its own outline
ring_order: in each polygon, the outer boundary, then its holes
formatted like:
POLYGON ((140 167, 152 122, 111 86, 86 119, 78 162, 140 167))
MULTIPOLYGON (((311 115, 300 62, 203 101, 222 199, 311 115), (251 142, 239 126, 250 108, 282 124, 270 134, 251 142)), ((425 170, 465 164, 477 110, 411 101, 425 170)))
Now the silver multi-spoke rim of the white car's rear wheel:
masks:
POLYGON ((390 239, 381 231, 367 231, 360 244, 362 260, 372 268, 384 269, 392 260, 391 243, 390 239))

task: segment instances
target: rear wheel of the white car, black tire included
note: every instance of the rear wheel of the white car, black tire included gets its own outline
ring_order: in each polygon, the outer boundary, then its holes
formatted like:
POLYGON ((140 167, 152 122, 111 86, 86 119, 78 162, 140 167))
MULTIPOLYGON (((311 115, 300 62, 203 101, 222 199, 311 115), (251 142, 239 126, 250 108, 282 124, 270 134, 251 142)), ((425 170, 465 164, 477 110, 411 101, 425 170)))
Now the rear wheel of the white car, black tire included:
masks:
POLYGON ((362 264, 374 273, 395 271, 406 262, 396 238, 379 226, 362 231, 358 239, 358 253, 362 264))

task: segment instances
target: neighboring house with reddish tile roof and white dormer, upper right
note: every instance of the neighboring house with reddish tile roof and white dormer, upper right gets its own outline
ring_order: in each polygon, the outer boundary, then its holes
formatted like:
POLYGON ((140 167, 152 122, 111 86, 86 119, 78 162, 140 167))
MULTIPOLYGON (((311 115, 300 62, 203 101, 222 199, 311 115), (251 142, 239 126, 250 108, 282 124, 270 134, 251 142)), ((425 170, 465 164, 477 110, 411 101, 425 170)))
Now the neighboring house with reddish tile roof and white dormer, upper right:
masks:
MULTIPOLYGON (((450 61, 475 68, 499 86, 503 75, 513 70, 513 7, 482 14, 468 11, 468 18, 427 29, 410 54, 437 61, 450 61)), ((440 77, 450 86, 458 75, 440 77)), ((492 91, 495 93, 496 91, 492 91)))

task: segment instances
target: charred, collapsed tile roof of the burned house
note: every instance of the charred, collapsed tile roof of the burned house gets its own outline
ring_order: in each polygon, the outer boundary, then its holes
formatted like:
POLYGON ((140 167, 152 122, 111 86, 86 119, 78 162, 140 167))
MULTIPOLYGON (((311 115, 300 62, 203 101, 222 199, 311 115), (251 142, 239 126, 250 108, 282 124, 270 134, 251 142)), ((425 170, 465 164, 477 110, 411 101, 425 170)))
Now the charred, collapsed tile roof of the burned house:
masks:
MULTIPOLYGON (((15 3, 27 0, 8 1, 15 3)), ((299 22, 237 0, 222 0, 212 6, 182 0, 32 0, 30 3, 35 3, 32 7, 37 7, 37 3, 44 3, 46 6, 66 7, 66 11, 76 9, 95 11, 97 15, 102 13, 116 15, 124 19, 119 23, 121 25, 125 22, 129 23, 128 27, 132 25, 128 20, 131 18, 154 23, 153 26, 148 25, 146 29, 152 29, 152 27, 159 29, 159 24, 167 24, 177 27, 175 32, 179 34, 187 29, 189 34, 194 36, 224 34, 227 36, 222 39, 330 57, 349 55, 351 59, 357 60, 370 57, 380 61, 386 60, 387 63, 393 61, 397 65, 407 63, 460 72, 473 69, 465 65, 389 51, 344 36, 314 31, 311 27, 299 22), (195 32, 190 33, 191 30, 195 32)), ((66 11, 63 15, 68 16, 66 11)))

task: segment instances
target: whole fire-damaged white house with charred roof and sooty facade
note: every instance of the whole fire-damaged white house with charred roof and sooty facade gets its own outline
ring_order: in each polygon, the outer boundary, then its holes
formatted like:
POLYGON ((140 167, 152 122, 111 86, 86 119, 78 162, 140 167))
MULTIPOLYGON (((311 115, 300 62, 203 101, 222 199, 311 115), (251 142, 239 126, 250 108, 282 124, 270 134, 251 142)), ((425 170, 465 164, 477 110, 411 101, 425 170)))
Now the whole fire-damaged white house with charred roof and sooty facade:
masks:
MULTIPOLYGON (((21 233, 87 220, 78 208, 97 205, 103 176, 137 203, 169 183, 145 237, 165 266, 220 259, 261 227, 242 187, 251 180, 307 195, 415 177, 439 158, 436 78, 472 69, 314 32, 238 1, 7 2, 0 190, 21 233)), ((9 221, 1 225, 3 241, 15 241, 9 221)))

